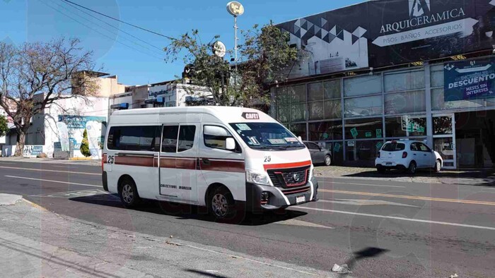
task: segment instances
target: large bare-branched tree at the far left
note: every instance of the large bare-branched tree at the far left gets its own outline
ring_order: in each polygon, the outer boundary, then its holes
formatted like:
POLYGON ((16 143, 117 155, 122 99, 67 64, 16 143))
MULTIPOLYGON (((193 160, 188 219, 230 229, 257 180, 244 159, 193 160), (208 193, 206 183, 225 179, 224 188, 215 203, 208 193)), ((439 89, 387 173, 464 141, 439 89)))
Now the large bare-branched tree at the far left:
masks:
POLYGON ((16 155, 21 156, 30 119, 59 99, 87 97, 98 90, 93 53, 79 40, 0 42, 0 107, 16 126, 16 155))

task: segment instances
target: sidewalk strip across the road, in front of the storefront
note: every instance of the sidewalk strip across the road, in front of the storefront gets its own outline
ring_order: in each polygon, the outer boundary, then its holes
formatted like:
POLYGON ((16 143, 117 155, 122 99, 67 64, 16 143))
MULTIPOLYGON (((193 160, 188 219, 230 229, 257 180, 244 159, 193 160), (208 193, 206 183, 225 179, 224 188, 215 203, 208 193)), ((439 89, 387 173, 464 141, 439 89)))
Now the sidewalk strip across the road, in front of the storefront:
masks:
POLYGON ((433 173, 429 170, 418 170, 411 175, 402 171, 378 173, 375 168, 357 167, 315 167, 315 176, 320 178, 363 179, 375 181, 402 181, 413 183, 447 183, 474 186, 495 186, 495 170, 460 170, 433 173))

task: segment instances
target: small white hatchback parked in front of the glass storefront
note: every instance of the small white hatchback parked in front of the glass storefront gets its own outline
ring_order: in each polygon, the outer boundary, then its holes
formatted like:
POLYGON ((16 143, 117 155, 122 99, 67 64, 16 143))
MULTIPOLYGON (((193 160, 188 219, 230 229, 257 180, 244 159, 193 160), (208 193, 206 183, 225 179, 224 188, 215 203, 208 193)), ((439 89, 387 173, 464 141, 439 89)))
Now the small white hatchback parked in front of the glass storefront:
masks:
POLYGON ((433 169, 439 172, 443 167, 441 155, 420 141, 388 141, 375 159, 375 167, 383 173, 388 169, 404 169, 414 174, 417 169, 433 169))

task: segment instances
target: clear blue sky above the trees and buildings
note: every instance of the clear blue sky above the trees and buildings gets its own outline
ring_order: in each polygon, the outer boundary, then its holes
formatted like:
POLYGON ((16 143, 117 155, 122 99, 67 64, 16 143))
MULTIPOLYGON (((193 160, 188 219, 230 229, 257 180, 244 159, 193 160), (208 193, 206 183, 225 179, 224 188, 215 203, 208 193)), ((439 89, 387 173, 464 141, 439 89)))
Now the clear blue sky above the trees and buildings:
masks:
MULTIPOLYGON (((233 18, 226 11, 227 0, 71 1, 171 37, 197 28, 204 42, 209 42, 214 35, 220 35, 220 40, 229 49, 233 48, 233 18)), ((362 1, 244 0, 240 2, 245 6, 245 13, 238 19, 238 25, 240 29, 249 29, 255 23, 263 25, 269 20, 282 23, 362 1)), ((168 40, 163 37, 106 18, 103 20, 153 46, 162 48, 168 44, 168 40)), ((0 0, 0 40, 22 44, 25 41, 47 41, 60 36, 80 38, 83 47, 94 51, 98 67, 103 66, 105 72, 118 75, 120 83, 127 85, 170 80, 180 75, 184 66, 180 61, 166 64, 159 49, 67 6, 62 0, 0 0)))

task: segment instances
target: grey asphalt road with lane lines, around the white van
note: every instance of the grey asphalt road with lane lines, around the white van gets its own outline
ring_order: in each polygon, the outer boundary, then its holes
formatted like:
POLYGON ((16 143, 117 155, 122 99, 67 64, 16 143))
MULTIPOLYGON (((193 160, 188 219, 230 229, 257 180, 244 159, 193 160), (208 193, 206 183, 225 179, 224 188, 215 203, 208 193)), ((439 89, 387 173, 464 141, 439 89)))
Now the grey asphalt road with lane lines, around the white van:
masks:
POLYGON ((495 274, 495 188, 320 179, 318 203, 227 224, 186 205, 151 202, 126 210, 103 191, 100 171, 0 160, 0 193, 90 222, 320 270, 347 263, 354 277, 495 274))

